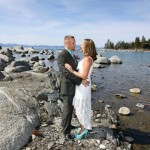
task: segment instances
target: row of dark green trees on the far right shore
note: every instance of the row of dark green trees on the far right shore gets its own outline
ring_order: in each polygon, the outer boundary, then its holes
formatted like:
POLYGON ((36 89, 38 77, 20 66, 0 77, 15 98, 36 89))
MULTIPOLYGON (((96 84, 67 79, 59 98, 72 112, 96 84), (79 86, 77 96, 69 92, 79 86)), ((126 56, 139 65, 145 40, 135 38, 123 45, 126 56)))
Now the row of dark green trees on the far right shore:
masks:
POLYGON ((107 40, 107 43, 105 43, 104 46, 105 49, 144 49, 144 50, 150 50, 150 39, 146 40, 144 36, 142 36, 142 39, 140 40, 139 37, 136 37, 134 42, 124 42, 119 41, 118 43, 114 44, 109 39, 107 40))

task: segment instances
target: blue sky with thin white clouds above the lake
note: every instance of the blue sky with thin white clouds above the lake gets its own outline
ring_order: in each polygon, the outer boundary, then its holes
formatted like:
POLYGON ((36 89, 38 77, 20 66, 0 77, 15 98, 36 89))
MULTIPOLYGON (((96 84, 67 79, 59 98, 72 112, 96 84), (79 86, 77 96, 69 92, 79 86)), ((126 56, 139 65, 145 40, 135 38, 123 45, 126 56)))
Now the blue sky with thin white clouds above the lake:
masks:
POLYGON ((150 0, 0 0, 0 43, 63 45, 67 34, 103 47, 150 38, 150 0))

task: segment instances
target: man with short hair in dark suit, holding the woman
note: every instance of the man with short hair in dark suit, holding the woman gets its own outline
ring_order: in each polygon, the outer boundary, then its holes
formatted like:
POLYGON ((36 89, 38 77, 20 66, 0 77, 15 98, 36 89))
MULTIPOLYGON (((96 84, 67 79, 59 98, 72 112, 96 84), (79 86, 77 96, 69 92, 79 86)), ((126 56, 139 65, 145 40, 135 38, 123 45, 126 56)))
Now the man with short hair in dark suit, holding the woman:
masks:
POLYGON ((62 114, 62 132, 67 139, 73 139, 70 134, 71 129, 74 126, 71 125, 72 113, 73 113, 73 97, 75 95, 75 86, 88 85, 87 80, 82 80, 81 78, 75 76, 68 69, 65 68, 65 63, 71 65, 73 70, 77 68, 77 60, 75 60, 72 51, 75 50, 76 41, 74 36, 67 35, 64 37, 64 46, 65 49, 58 56, 58 67, 61 72, 61 85, 60 85, 60 94, 63 95, 63 114, 62 114))

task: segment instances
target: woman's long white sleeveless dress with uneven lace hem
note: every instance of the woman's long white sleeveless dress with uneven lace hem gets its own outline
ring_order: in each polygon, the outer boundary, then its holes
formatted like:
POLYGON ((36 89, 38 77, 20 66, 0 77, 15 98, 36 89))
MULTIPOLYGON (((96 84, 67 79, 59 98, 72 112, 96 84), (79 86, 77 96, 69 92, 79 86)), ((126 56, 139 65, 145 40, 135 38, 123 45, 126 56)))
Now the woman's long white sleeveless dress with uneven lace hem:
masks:
MULTIPOLYGON (((92 59, 92 58, 91 58, 92 59)), ((92 60, 93 61, 93 60, 92 60)), ((83 72, 83 59, 78 64, 78 72, 83 72)), ((91 130, 91 73, 93 70, 93 64, 90 67, 88 74, 89 86, 85 87, 83 84, 76 86, 75 96, 73 98, 73 106, 75 113, 81 125, 84 128, 91 130)))

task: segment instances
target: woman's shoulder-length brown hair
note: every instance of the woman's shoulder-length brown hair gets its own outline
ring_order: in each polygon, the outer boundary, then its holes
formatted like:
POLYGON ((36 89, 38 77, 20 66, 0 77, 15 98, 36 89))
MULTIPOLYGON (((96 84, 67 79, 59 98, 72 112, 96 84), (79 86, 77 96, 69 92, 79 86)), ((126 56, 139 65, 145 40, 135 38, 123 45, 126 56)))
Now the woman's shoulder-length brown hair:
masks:
POLYGON ((90 56, 93 61, 96 60, 96 47, 95 43, 91 39, 84 39, 85 44, 85 50, 84 50, 84 56, 90 56))

